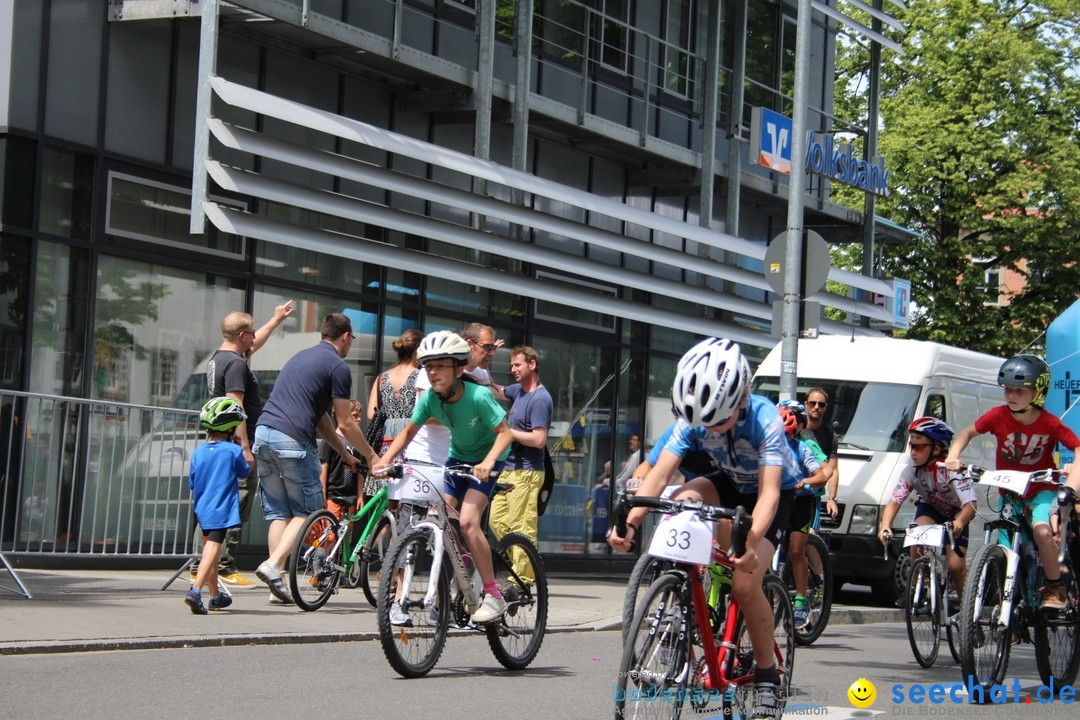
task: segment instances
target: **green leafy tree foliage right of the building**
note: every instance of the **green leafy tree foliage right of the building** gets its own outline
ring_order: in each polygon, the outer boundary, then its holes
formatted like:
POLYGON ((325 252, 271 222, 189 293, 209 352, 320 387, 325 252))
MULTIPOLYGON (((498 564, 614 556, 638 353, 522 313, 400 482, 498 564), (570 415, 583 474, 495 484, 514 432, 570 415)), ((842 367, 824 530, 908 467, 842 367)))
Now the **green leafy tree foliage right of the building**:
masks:
MULTIPOLYGON (((1080 288, 1080 3, 912 0, 897 17, 906 56, 883 53, 879 139, 893 194, 878 214, 923 237, 881 248, 880 269, 913 282, 908 337, 1017 352, 1080 288), (1001 307, 990 268, 1026 279, 1001 307)), ((836 109, 865 124, 868 53, 838 53, 836 109)))

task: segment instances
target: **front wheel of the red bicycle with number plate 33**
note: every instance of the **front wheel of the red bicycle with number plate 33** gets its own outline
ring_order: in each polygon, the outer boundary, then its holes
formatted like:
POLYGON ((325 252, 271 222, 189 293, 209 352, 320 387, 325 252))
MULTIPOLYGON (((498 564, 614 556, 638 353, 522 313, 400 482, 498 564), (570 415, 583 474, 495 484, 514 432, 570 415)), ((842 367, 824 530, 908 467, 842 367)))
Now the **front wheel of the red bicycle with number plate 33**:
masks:
POLYGON ((685 574, 669 572, 649 586, 623 642, 615 684, 616 720, 679 717, 692 669, 692 619, 685 574))

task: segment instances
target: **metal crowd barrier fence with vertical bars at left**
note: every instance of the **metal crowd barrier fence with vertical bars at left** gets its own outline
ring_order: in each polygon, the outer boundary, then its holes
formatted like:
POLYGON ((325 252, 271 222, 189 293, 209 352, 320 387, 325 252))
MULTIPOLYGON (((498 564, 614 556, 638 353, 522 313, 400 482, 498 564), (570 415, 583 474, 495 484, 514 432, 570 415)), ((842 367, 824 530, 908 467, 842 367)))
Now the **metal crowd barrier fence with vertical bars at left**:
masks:
POLYGON ((189 558, 199 412, 0 391, 0 552, 189 558))

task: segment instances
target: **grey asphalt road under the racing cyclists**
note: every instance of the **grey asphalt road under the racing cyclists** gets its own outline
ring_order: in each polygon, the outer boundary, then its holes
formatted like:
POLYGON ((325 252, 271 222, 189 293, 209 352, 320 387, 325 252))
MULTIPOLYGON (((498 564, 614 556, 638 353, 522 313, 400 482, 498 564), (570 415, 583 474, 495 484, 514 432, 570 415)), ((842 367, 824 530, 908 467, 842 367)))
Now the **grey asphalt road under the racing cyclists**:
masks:
MULTIPOLYGON (((523 673, 503 671, 483 637, 451 637, 434 671, 419 680, 399 678, 376 641, 4 656, 0 717, 610 718, 620 637, 551 634, 523 673)), ((959 693, 961 704, 954 703, 947 693, 959 680, 944 646, 934 668, 918 667, 903 624, 837 626, 796 653, 796 694, 785 718, 1076 716, 1072 705, 1034 696, 1041 683, 1030 646, 1013 649, 1008 705, 972 706, 959 693), (862 710, 847 695, 860 678, 877 691, 862 710), (943 702, 910 702, 913 685, 933 683, 945 687, 943 702), (896 692, 903 703, 893 702, 896 692)))

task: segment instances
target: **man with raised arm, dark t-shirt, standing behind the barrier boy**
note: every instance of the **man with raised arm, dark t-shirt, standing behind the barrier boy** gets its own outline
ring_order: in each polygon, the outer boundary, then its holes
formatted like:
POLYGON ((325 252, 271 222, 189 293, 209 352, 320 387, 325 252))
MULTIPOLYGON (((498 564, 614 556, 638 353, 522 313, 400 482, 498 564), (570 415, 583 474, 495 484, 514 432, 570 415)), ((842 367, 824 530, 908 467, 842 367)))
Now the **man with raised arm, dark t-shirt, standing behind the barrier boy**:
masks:
MULTIPOLYGON (((206 394, 210 397, 231 397, 244 408, 247 419, 240 423, 233 438, 244 453, 244 460, 252 468, 251 475, 240 483, 240 522, 246 525, 255 504, 255 425, 262 412, 262 396, 259 381, 247 366, 252 355, 266 344, 273 331, 293 314, 293 301, 288 300, 273 309, 273 317, 258 330, 255 318, 245 312, 234 311, 221 321, 221 347, 206 362, 206 394)), ((225 533, 221 556, 217 562, 217 576, 222 583, 237 587, 253 587, 255 583, 240 573, 237 567, 237 548, 240 546, 241 528, 231 528, 225 533)), ((195 528, 194 552, 202 552, 202 528, 195 528)), ((199 573, 199 560, 191 563, 191 574, 199 573)))

